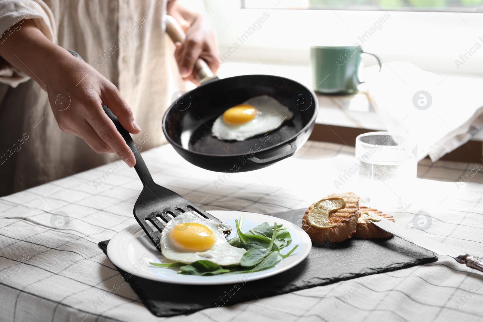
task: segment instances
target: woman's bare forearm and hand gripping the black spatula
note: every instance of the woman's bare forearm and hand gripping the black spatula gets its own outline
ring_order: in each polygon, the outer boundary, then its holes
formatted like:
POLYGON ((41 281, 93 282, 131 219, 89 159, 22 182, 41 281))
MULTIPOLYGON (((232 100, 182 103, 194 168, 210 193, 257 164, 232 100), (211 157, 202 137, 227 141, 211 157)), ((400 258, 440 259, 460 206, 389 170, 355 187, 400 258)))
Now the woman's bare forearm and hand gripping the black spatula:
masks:
POLYGON ((109 106, 130 133, 141 131, 114 84, 49 41, 29 20, 0 45, 0 55, 47 92, 62 131, 81 137, 98 153, 115 152, 129 167, 134 166, 134 154, 102 109, 109 106))

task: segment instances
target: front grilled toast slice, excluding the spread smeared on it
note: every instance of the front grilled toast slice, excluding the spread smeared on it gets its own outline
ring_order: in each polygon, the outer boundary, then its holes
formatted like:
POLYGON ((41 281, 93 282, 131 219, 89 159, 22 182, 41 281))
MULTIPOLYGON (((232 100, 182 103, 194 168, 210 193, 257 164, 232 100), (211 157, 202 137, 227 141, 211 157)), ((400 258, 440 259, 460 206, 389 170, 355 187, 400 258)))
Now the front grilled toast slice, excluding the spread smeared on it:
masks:
MULTIPOLYGON (((302 229, 307 232, 310 239, 315 242, 340 242, 347 238, 351 238, 355 232, 357 219, 359 218, 359 196, 353 192, 345 194, 332 194, 327 197, 341 197, 345 200, 345 207, 329 214, 329 222, 336 224, 331 228, 318 228, 311 226, 307 222, 307 215, 317 204, 314 202, 305 212, 302 218, 302 229)), ((319 200, 320 201, 320 200, 319 200)))

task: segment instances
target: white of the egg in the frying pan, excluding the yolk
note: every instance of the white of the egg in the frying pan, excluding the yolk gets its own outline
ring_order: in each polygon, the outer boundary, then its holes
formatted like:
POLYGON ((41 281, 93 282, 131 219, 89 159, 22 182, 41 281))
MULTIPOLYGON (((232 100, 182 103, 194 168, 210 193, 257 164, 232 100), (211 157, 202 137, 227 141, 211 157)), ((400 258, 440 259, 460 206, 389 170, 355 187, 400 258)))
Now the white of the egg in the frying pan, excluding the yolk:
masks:
POLYGON ((244 104, 256 108, 254 119, 242 124, 229 124, 223 120, 223 114, 221 114, 213 122, 213 136, 220 140, 242 141, 273 131, 294 116, 286 106, 268 95, 250 98, 244 104))

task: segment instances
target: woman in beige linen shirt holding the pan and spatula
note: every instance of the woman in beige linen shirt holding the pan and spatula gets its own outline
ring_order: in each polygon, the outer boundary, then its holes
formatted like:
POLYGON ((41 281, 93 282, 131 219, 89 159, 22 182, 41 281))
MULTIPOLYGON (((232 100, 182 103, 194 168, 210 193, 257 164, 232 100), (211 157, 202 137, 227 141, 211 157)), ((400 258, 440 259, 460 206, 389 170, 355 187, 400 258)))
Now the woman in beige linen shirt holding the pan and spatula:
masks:
POLYGON ((112 153, 134 166, 102 106, 141 149, 158 146, 196 60, 218 65, 203 16, 176 0, 0 0, 0 33, 0 196, 112 162, 112 153), (170 43, 164 14, 185 29, 183 44, 170 43))

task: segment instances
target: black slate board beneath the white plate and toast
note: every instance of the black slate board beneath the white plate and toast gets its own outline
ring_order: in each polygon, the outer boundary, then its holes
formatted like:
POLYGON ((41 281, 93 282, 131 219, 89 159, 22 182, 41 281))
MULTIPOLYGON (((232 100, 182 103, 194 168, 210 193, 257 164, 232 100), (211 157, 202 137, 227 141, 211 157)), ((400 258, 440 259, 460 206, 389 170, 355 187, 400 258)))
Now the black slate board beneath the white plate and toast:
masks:
MULTIPOLYGON (((271 214, 301 225, 305 209, 271 214)), ((109 240, 99 242, 106 253, 109 240)), ((341 280, 435 262, 438 257, 398 237, 350 238, 341 243, 313 243, 308 257, 272 277, 227 285, 178 285, 156 282, 117 267, 142 303, 158 317, 189 314, 204 308, 230 306, 257 298, 327 285, 341 280)), ((162 268, 160 268, 162 269, 162 268)))

